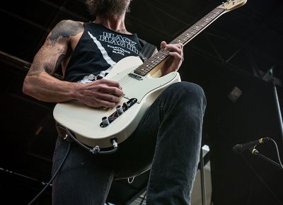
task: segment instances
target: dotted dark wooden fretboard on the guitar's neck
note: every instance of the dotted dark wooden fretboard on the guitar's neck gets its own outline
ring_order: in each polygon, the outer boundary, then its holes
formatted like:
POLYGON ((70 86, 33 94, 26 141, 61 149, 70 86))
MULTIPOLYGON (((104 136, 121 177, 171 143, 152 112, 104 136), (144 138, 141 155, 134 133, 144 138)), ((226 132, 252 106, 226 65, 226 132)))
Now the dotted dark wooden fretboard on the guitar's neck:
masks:
MULTIPOLYGON (((176 37, 175 40, 170 43, 181 43, 183 45, 186 45, 187 42, 189 42, 190 40, 192 40, 193 37, 201 33, 204 28, 207 28, 207 26, 213 21, 215 21, 216 18, 218 18, 222 13, 224 13, 224 11, 225 8, 214 8, 213 11, 210 11, 206 16, 200 19, 200 21, 197 21, 197 23, 185 30, 185 32, 176 37)), ((165 60, 168 56, 169 52, 165 49, 161 49, 159 52, 154 54, 154 56, 144 61, 144 64, 141 64, 139 67, 137 67, 137 69, 134 70, 134 73, 139 74, 140 76, 145 76, 163 60, 165 60)))

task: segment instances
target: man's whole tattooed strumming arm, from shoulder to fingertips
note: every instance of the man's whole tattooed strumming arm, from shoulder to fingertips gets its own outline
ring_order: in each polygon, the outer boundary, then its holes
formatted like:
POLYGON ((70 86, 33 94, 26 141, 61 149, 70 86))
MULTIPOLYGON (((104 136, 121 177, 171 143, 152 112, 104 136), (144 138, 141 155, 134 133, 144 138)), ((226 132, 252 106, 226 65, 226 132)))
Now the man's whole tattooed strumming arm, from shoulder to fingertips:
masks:
POLYGON ((60 64, 64 69, 67 54, 76 47, 82 33, 83 23, 76 21, 61 21, 52 29, 25 76, 23 93, 45 102, 80 100, 92 107, 114 107, 119 102, 122 90, 116 82, 102 79, 70 83, 52 76, 60 64))

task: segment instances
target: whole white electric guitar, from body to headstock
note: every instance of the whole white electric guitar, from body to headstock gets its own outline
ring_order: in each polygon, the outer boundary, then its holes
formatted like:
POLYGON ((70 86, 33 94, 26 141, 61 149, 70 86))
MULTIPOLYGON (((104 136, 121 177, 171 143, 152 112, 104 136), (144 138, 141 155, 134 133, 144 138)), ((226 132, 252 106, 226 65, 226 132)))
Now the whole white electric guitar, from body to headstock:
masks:
MULTIPOLYGON (((229 0, 217 6, 171 43, 187 44, 216 18, 246 4, 246 1, 229 0)), ((105 77, 119 82, 123 88, 125 95, 117 107, 101 109, 88 107, 75 100, 60 102, 54 107, 55 121, 86 146, 110 148, 113 146, 112 139, 117 143, 125 141, 137 128, 144 112, 161 91, 172 83, 180 81, 178 72, 160 76, 160 68, 168 56, 168 51, 161 49, 144 62, 139 57, 122 59, 105 77)))

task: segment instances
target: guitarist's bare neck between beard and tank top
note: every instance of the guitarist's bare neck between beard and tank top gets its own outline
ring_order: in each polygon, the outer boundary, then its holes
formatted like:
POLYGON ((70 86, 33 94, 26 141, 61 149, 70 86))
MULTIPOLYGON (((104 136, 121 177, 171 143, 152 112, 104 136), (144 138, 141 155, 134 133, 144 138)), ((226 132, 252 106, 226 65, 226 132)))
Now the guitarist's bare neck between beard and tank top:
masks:
POLYGON ((119 33, 130 34, 125 27, 125 13, 122 16, 115 15, 98 15, 94 23, 99 23, 119 33))

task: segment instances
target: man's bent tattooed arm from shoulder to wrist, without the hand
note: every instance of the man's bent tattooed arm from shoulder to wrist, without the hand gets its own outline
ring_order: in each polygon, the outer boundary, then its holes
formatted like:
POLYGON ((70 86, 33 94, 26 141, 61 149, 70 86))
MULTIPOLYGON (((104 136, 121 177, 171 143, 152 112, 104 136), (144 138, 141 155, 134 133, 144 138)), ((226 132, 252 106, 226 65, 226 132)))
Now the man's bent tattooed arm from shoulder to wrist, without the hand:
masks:
POLYGON ((50 32, 40 50, 35 54, 23 82, 23 93, 46 102, 71 100, 74 83, 52 77, 54 71, 71 49, 71 38, 83 32, 83 25, 74 21, 60 21, 50 32))

